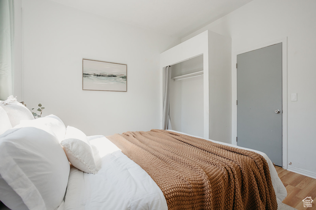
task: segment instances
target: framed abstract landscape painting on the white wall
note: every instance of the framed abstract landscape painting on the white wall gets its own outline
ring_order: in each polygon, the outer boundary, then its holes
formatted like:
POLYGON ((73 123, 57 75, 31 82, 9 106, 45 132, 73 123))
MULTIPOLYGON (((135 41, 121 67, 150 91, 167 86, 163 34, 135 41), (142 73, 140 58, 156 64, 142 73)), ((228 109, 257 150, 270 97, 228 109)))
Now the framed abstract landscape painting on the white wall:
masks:
POLYGON ((126 91, 125 64, 82 59, 82 89, 126 91))

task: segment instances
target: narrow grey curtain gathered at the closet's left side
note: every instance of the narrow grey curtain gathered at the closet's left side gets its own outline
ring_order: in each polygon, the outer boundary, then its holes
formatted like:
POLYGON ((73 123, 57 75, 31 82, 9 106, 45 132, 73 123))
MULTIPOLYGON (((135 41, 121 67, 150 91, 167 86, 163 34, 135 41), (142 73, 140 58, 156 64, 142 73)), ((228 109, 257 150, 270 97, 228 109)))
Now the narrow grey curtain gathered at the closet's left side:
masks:
POLYGON ((171 66, 163 68, 163 84, 162 84, 162 129, 172 129, 170 116, 169 116, 169 104, 170 104, 170 79, 171 79, 171 66))

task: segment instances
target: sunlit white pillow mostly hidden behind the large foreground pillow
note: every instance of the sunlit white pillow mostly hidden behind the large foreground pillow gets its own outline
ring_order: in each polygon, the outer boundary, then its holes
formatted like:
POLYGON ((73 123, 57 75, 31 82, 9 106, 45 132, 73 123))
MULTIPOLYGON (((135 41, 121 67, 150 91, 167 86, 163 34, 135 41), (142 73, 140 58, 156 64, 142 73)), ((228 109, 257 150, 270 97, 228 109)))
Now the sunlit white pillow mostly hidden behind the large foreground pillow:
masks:
POLYGON ((48 115, 35 120, 21 120, 20 124, 14 128, 24 127, 34 127, 45 130, 55 136, 58 139, 58 142, 61 142, 66 134, 66 126, 64 122, 55 115, 48 115))

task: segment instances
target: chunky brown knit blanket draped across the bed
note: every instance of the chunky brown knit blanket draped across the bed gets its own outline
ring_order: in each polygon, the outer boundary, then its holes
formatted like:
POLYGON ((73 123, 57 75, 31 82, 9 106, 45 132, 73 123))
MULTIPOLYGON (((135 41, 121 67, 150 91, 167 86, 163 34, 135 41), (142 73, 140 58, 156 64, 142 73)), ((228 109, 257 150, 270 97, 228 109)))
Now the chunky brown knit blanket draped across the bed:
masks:
POLYGON ((258 153, 171 131, 107 136, 162 190, 168 209, 277 209, 258 153))

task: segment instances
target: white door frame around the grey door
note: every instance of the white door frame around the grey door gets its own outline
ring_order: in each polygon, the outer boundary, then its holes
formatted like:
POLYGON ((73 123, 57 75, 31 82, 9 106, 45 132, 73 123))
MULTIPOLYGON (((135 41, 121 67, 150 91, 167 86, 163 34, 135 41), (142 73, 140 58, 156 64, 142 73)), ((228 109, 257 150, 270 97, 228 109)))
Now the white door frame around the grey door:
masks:
POLYGON ((240 50, 233 54, 232 60, 232 144, 237 145, 236 137, 237 137, 237 71, 236 71, 236 63, 237 63, 237 55, 246 53, 252 50, 268 47, 270 45, 282 43, 282 166, 284 169, 287 169, 288 164, 288 125, 287 125, 287 42, 288 38, 284 37, 281 39, 274 40, 272 42, 264 43, 252 48, 247 48, 244 50, 240 50))

